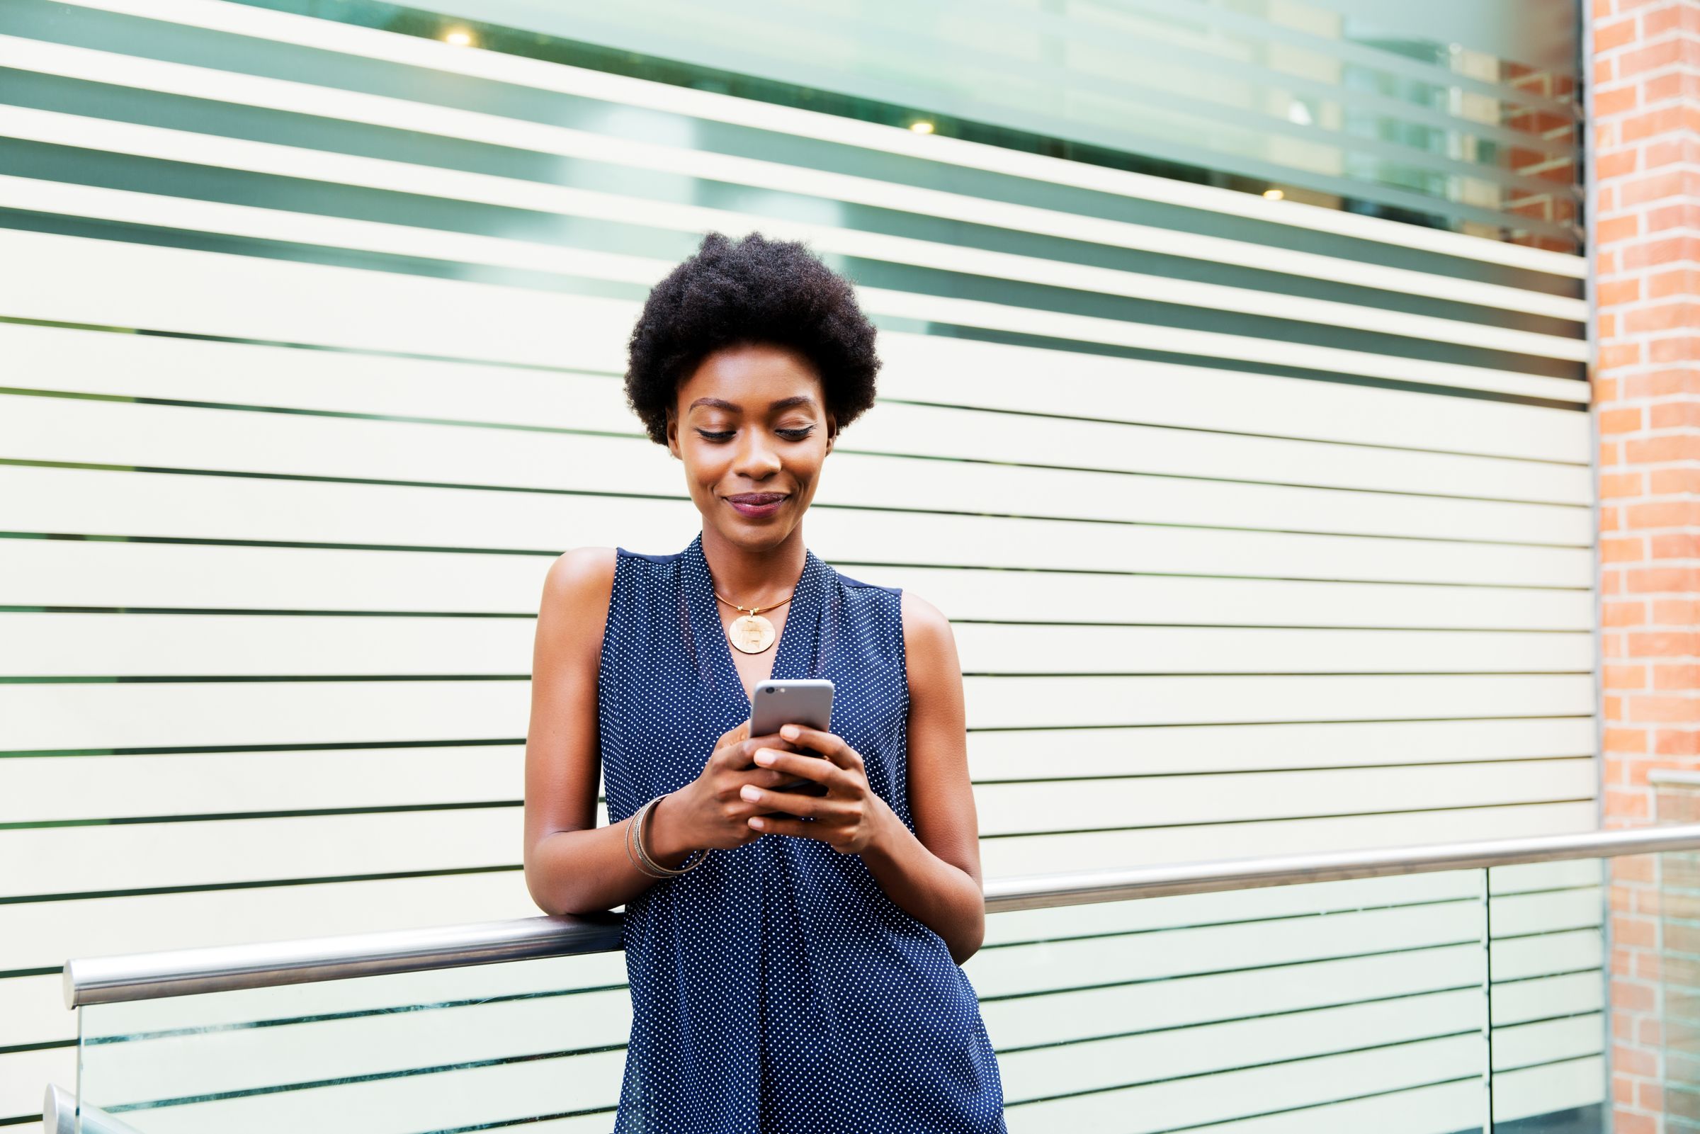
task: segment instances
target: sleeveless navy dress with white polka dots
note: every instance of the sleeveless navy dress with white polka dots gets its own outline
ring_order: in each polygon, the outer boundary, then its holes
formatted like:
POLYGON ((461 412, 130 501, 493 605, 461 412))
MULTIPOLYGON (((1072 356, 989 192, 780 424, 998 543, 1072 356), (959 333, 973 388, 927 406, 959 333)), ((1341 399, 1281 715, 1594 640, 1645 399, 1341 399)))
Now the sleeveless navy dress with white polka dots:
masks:
MULTIPOLYGON (((597 683, 609 821, 750 719, 702 554, 617 549, 597 683)), ((775 678, 831 678, 836 734, 915 830, 901 592, 806 553, 775 678)), ((626 904, 632 1027, 614 1134, 1005 1134, 967 976, 860 855, 763 835, 626 904)))

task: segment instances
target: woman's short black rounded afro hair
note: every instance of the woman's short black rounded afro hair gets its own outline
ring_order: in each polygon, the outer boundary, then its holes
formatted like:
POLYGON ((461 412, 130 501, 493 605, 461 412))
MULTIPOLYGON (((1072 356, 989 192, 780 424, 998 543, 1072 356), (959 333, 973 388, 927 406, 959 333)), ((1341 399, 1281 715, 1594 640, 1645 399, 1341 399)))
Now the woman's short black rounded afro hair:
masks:
POLYGON ((722 347, 777 343, 821 377, 838 428, 874 405, 874 325, 848 281, 794 240, 709 233, 643 304, 627 350, 626 401, 656 444, 678 384, 722 347))

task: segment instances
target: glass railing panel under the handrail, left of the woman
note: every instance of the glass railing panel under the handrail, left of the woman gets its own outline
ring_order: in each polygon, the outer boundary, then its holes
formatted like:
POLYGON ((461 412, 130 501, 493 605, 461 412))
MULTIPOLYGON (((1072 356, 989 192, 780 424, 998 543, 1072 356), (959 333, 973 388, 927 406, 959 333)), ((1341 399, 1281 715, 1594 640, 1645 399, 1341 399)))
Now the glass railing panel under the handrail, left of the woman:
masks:
POLYGON ((139 1134, 607 1134, 620 952, 80 1010, 78 1090, 139 1134))

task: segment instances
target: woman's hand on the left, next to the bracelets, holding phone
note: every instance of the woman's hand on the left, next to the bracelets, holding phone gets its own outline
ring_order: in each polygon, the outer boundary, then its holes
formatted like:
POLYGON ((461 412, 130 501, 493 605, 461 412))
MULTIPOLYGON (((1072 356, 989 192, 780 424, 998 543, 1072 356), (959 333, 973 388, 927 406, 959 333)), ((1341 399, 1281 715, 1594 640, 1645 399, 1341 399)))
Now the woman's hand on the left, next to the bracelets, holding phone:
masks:
POLYGON ((666 862, 699 847, 729 850, 762 838, 762 831, 750 826, 750 816, 777 813, 772 811, 772 804, 753 804, 740 792, 745 784, 772 791, 792 777, 756 765, 755 751, 758 748, 797 751, 797 748, 777 733, 750 738, 748 731, 750 723, 745 721, 721 734, 697 779, 654 806, 644 831, 653 857, 666 862))

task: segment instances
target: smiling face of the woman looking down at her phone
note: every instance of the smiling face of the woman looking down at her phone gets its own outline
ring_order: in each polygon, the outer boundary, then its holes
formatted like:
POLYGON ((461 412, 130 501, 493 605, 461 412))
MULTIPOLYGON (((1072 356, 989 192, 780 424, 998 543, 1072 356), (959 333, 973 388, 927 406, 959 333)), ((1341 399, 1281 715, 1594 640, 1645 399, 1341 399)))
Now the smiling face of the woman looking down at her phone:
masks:
POLYGON ((685 462, 704 529, 760 551, 802 522, 835 434, 809 360, 748 343, 716 350, 678 384, 666 447, 685 462))

